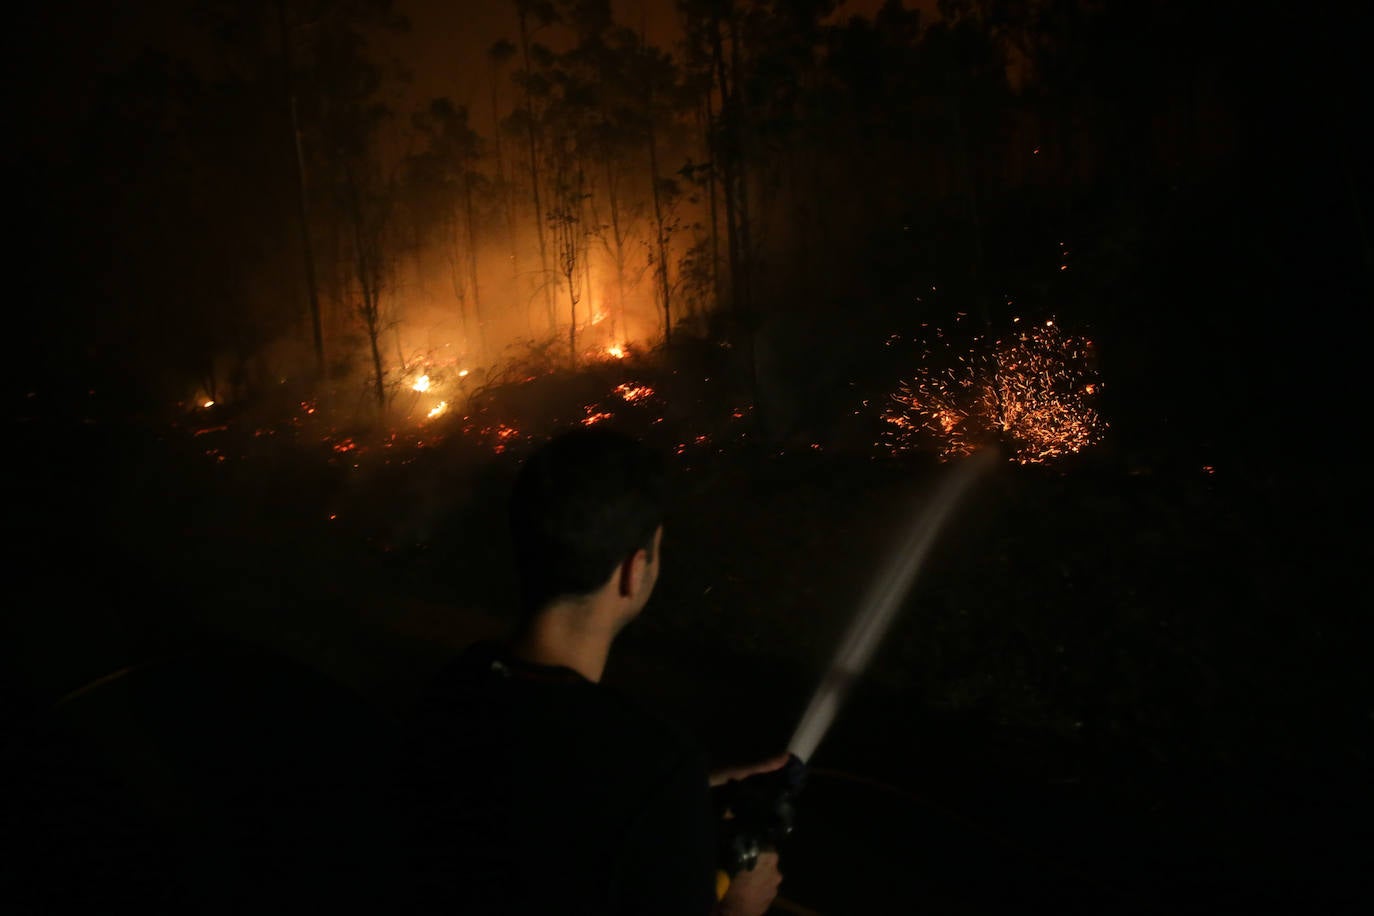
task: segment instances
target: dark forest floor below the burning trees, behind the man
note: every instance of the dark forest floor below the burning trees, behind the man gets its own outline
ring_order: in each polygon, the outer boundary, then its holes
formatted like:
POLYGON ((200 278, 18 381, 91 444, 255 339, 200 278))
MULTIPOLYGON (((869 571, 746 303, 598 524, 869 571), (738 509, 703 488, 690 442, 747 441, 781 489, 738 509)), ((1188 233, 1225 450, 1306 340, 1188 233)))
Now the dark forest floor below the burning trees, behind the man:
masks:
MULTIPOLYGON (((951 466, 878 455, 864 426, 763 446, 712 419, 732 393, 694 391, 699 409, 635 420, 683 441, 679 501, 607 681, 747 761, 786 746, 951 466)), ((521 441, 341 453, 254 430, 29 423, 11 721, 206 639, 404 713, 442 661, 503 632, 521 441)), ((1110 442, 981 475, 809 761, 779 911, 1358 911, 1369 670, 1363 611, 1327 570, 1360 548, 1323 537, 1344 488, 1110 442)))

